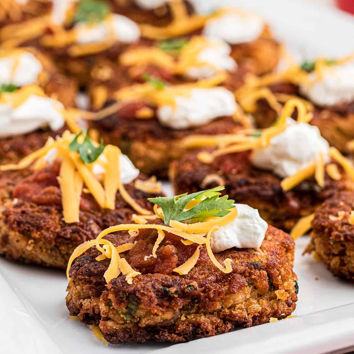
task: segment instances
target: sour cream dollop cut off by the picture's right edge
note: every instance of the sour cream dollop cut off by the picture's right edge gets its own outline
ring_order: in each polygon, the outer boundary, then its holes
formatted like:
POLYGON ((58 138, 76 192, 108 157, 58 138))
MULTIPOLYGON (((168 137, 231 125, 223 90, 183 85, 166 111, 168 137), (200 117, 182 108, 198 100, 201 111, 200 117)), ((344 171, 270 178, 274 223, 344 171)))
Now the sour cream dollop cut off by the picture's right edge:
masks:
POLYGON ((326 68, 322 80, 318 80, 314 72, 309 74, 309 79, 309 83, 300 86, 300 91, 318 105, 335 105, 354 100, 354 62, 326 68))

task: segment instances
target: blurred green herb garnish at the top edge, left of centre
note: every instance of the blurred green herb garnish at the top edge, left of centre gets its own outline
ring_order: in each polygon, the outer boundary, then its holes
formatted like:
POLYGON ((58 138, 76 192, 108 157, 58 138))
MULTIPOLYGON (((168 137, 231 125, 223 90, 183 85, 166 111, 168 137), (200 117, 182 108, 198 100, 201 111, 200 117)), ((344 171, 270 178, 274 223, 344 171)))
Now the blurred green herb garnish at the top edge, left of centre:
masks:
POLYGON ((81 0, 78 4, 74 22, 101 22, 110 12, 108 4, 99 0, 81 0))

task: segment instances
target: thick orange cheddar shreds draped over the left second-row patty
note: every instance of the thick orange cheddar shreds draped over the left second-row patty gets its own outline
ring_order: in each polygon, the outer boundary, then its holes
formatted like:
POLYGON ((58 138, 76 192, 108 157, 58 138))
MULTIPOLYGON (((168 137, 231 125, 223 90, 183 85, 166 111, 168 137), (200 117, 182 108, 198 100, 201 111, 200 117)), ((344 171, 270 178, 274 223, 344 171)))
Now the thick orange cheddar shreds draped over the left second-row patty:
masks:
POLYGON ((129 193, 127 193, 120 181, 120 149, 113 145, 107 145, 104 148, 102 154, 108 162, 104 164, 105 173, 102 184, 92 170, 93 164, 96 162, 86 164, 82 161, 78 152, 70 151, 69 144, 73 141, 74 137, 74 134, 65 131, 62 137, 58 137, 56 140, 52 138, 48 139, 43 148, 26 156, 18 164, 2 165, 0 166, 0 170, 19 170, 32 164, 37 168, 41 168, 45 166, 44 157, 46 154, 51 150, 54 151, 53 149, 57 149, 55 156, 61 162, 58 182, 62 192, 63 215, 66 223, 79 222, 83 183, 85 183, 87 191, 92 194, 102 209, 115 209, 116 193, 119 191, 122 198, 134 210, 142 215, 151 216, 152 212, 138 205, 129 193))

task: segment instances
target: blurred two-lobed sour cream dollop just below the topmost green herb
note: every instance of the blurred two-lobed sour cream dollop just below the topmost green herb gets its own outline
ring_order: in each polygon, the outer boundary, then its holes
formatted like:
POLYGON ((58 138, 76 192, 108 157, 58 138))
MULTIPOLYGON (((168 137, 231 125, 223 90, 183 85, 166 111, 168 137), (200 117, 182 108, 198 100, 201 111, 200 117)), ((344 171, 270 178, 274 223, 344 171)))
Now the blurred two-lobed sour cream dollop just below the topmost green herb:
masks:
POLYGON ((140 38, 138 25, 130 18, 112 14, 97 24, 78 23, 75 25, 76 40, 79 44, 102 42, 114 36, 118 41, 132 43, 140 38))

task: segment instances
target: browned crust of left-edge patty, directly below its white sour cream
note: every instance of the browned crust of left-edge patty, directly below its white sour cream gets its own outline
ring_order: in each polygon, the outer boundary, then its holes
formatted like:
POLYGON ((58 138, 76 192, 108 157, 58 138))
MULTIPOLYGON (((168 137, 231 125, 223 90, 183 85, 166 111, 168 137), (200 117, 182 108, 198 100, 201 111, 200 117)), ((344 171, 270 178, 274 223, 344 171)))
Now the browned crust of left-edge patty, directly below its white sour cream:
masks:
POLYGON ((16 164, 28 154, 43 147, 49 137, 61 135, 64 130, 65 127, 57 131, 39 129, 33 133, 0 139, 0 165, 16 164))

